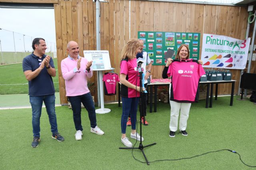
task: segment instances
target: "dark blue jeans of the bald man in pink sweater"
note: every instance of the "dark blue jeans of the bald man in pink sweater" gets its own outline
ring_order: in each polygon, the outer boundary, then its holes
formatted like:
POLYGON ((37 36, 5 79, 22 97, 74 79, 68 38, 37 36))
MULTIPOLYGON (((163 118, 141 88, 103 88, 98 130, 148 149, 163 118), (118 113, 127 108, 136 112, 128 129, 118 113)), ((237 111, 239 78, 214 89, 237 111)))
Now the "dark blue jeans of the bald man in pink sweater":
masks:
POLYGON ((68 96, 68 100, 72 106, 76 131, 83 131, 81 124, 81 102, 88 111, 91 127, 94 128, 97 125, 95 107, 90 92, 80 96, 68 96))

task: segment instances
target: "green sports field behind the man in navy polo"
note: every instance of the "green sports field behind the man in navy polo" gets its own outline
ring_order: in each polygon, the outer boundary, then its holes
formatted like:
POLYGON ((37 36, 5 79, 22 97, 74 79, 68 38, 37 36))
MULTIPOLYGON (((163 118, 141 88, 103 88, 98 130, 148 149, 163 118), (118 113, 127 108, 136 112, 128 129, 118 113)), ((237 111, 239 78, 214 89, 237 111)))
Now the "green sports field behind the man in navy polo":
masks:
MULTIPOLYGON (((59 92, 58 63, 56 58, 53 61, 56 76, 52 79, 55 91, 59 92)), ((22 63, 0 65, 0 74, 0 94, 28 94, 28 80, 23 73, 22 63)))

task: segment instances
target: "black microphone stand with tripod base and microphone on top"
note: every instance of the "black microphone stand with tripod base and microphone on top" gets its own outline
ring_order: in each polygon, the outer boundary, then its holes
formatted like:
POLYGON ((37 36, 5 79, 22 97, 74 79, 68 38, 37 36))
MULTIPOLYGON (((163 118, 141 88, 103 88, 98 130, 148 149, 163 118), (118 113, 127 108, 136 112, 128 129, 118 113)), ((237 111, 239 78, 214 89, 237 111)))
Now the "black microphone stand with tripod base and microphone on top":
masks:
POLYGON ((143 149, 146 148, 146 147, 150 147, 152 145, 156 145, 156 143, 152 143, 152 144, 146 145, 146 146, 142 145, 142 122, 141 122, 141 116, 142 115, 141 114, 144 111, 144 107, 142 107, 142 104, 144 104, 144 98, 142 97, 144 92, 142 91, 142 73, 143 73, 143 71, 142 71, 142 68, 141 68, 141 63, 138 63, 137 68, 138 68, 138 72, 140 73, 140 99, 141 99, 140 100, 140 102, 141 102, 141 107, 140 107, 140 145, 139 145, 139 147, 132 147, 132 148, 119 147, 119 149, 140 149, 144 158, 145 158, 145 160, 146 160, 146 162, 147 162, 147 164, 150 165, 143 149))

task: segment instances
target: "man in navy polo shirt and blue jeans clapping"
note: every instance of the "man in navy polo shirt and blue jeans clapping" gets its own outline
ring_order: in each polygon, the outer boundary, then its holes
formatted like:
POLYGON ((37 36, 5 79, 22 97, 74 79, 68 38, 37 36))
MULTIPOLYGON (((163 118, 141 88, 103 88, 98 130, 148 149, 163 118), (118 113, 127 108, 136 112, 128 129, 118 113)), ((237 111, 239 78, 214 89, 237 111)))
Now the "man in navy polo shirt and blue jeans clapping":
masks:
POLYGON ((32 42, 34 52, 23 59, 23 72, 28 80, 29 99, 32 106, 32 127, 34 139, 32 147, 38 147, 40 142, 40 116, 42 104, 46 107, 49 117, 52 138, 57 141, 64 141, 58 133, 55 114, 55 90, 52 77, 56 76, 53 60, 45 55, 47 49, 45 40, 35 38, 32 42))

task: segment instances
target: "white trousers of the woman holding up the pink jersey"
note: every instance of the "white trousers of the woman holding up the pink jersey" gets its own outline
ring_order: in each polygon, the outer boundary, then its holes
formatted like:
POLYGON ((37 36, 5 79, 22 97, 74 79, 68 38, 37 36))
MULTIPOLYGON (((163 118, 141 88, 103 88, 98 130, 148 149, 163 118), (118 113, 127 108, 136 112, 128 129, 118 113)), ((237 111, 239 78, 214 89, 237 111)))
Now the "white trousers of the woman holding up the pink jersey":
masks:
MULTIPOLYGON (((171 91, 171 84, 169 89, 169 95, 171 91)), ((178 130, 178 118, 180 113, 179 130, 184 131, 187 127, 187 120, 191 103, 178 103, 170 100, 171 116, 170 116, 170 131, 176 132, 178 130)))

